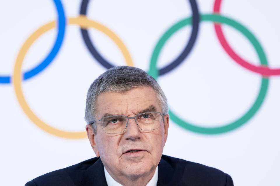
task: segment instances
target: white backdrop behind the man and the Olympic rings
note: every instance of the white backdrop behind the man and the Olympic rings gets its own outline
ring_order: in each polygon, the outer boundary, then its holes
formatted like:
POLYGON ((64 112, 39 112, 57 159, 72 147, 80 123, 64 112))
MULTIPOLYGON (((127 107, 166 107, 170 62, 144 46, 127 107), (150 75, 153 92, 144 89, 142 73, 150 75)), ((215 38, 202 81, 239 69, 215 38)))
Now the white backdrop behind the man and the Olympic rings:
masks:
MULTIPOLYGON (((42 31, 34 42, 27 41, 30 48, 24 46, 24 42, 41 26, 57 21, 55 2, 59 4, 58 0, 1 2, 1 185, 24 185, 49 171, 95 157, 86 138, 71 139, 70 135, 69 139, 62 132, 59 137, 39 128, 39 122, 20 105, 25 100, 34 115, 47 126, 74 133, 84 131, 88 87, 106 70, 85 45, 80 27, 67 21, 64 35, 60 30, 62 45, 50 64, 38 74, 15 83, 21 49, 26 49, 21 53, 25 55, 22 73, 39 65, 53 49, 57 27, 42 31), (18 98, 20 91, 15 91, 20 90, 19 82, 24 99, 18 98)), ((61 3, 64 14, 60 10, 60 15, 66 19, 80 15, 81 0, 61 3)), ((213 13, 213 0, 196 3, 200 15, 213 13)), ((279 185, 279 7, 279 1, 221 2, 220 15, 248 29, 260 43, 257 50, 264 51, 262 60, 266 59, 270 68, 264 76, 269 81, 264 90, 266 94, 248 121, 221 133, 218 130, 212 130, 213 134, 195 132, 184 124, 180 126, 180 122, 171 117, 164 154, 221 169, 232 176, 235 185, 279 185)), ((191 17, 191 10, 186 0, 91 0, 87 18, 115 33, 129 52, 133 65, 149 71, 157 42, 171 26, 191 17)), ((260 66, 255 43, 236 28, 223 25, 222 29, 238 56, 260 66)), ((182 53, 191 31, 192 26, 187 25, 167 40, 160 51, 157 68, 170 64, 182 53)), ((88 33, 105 60, 112 65, 127 64, 108 35, 94 28, 89 28, 88 33)), ((220 44, 213 22, 202 20, 188 56, 157 80, 176 116, 195 127, 218 128, 238 120, 254 104, 265 69, 255 71, 258 72, 242 67, 231 58, 220 44)))

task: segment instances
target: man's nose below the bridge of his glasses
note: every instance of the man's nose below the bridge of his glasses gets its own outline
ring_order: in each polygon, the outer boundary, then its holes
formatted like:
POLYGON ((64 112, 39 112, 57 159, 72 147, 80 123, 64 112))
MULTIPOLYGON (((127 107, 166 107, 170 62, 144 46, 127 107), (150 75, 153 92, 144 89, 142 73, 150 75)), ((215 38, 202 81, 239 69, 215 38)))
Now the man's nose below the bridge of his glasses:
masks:
POLYGON ((141 129, 138 127, 135 119, 128 119, 127 127, 125 129, 124 137, 126 140, 140 139, 141 129))

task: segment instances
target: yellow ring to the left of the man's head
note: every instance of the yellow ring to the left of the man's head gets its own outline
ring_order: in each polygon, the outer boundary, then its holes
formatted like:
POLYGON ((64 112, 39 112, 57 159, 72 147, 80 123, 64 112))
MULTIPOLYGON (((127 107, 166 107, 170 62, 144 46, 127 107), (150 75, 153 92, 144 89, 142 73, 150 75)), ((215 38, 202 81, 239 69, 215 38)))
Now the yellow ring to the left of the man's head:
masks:
MULTIPOLYGON (((120 51, 122 52, 123 56, 125 57, 126 64, 128 66, 133 66, 132 59, 129 55, 129 52, 125 45, 122 43, 120 38, 118 38, 117 35, 115 35, 111 30, 109 30, 107 27, 101 25, 100 23, 97 23, 95 21, 91 21, 87 19, 85 16, 79 16, 76 18, 69 18, 68 19, 69 24, 77 24, 81 26, 81 28, 88 28, 93 27, 98 29, 99 31, 103 32, 104 34, 108 35, 119 47, 120 51)), ((41 129, 45 130, 46 132, 53 134, 55 136, 64 137, 64 138, 71 138, 71 139, 79 139, 79 138, 85 138, 87 135, 85 132, 68 132, 64 130, 59 130, 56 128, 53 128, 43 122, 41 119, 39 119, 29 108, 26 100, 24 99, 23 92, 22 92, 22 75, 21 75, 21 68, 22 68, 22 62, 24 59, 25 54, 27 53, 29 47, 31 44, 38 39, 43 33, 49 31, 50 29, 55 28, 55 21, 50 22, 48 24, 45 24, 38 30, 36 30, 22 45, 22 48, 20 49, 17 59, 15 61, 15 68, 13 73, 13 85, 15 88, 15 94, 17 96, 17 100, 20 103, 20 106, 24 113, 29 117, 31 121, 33 121, 34 124, 36 124, 41 129)))

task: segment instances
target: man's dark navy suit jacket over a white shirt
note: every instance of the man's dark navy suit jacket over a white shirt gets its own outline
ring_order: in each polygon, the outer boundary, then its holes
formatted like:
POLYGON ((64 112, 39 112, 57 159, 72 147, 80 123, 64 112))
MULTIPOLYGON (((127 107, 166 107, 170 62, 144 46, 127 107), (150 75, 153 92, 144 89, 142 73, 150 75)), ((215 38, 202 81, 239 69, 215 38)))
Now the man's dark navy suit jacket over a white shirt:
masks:
MULTIPOLYGON (((107 185, 107 183, 100 158, 92 158, 39 176, 25 186, 35 185, 94 186, 107 185)), ((162 155, 158 164, 157 185, 233 186, 233 182, 228 174, 218 169, 162 155)))

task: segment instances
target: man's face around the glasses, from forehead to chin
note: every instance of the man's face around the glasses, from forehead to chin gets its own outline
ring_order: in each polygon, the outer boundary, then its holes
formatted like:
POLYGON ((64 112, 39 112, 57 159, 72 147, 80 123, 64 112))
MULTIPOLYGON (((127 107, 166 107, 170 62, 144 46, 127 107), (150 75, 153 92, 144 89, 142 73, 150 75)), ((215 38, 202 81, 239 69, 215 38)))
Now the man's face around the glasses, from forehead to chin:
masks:
MULTIPOLYGON (((162 112, 155 91, 151 87, 139 87, 125 93, 105 92, 97 98, 96 119, 104 115, 125 115, 133 117, 142 112, 162 112)), ((106 134, 100 122, 94 135, 91 126, 87 133, 95 154, 100 156, 106 170, 118 178, 137 178, 153 175, 160 162, 163 146, 167 139, 169 115, 164 115, 160 128, 141 130, 134 119, 128 120, 123 133, 106 134), (138 152, 127 152, 140 150, 138 152)))

